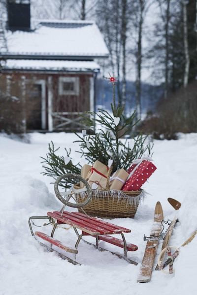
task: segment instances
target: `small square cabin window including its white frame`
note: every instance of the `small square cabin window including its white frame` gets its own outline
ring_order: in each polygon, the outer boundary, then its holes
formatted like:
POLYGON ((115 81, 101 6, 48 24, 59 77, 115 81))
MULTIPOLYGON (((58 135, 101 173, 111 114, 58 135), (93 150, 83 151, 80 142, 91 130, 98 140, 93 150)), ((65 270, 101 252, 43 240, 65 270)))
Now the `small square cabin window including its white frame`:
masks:
POLYGON ((59 78, 60 95, 79 95, 78 77, 60 77, 59 78))

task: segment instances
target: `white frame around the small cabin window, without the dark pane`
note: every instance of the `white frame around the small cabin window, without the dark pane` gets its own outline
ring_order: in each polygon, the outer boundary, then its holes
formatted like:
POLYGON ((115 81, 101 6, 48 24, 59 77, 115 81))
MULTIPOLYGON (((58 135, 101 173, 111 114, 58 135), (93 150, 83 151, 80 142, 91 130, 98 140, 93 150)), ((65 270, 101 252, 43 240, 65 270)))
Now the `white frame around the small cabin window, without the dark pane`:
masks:
POLYGON ((79 95, 79 77, 60 77, 59 78, 59 95, 79 95), (64 90, 64 82, 73 82, 74 90, 64 90))

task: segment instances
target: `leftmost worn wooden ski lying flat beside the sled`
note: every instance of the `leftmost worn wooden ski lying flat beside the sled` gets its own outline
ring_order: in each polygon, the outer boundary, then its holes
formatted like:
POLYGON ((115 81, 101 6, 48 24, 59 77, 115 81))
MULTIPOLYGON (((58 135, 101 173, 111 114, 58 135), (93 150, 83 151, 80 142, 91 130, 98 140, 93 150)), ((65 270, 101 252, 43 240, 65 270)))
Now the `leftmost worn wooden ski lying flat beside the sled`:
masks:
POLYGON ((157 202, 155 207, 154 223, 151 230, 151 239, 147 241, 144 257, 142 259, 142 266, 140 267, 140 274, 138 276, 138 283, 146 283, 151 280, 154 260, 157 252, 157 246, 159 243, 159 236, 163 230, 162 220, 164 219, 164 213, 162 205, 157 202))

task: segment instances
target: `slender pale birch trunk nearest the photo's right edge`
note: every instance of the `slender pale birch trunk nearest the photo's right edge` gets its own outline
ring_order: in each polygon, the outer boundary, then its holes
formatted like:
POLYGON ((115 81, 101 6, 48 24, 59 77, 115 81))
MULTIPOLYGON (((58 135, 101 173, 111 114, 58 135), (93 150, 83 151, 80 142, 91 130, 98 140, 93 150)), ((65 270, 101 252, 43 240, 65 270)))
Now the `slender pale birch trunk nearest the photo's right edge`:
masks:
POLYGON ((185 71, 183 86, 184 88, 188 85, 189 70, 190 70, 190 55, 189 55, 189 45, 188 45, 188 26, 187 26, 187 7, 186 1, 182 1, 183 4, 183 40, 184 40, 184 54, 185 54, 185 71))

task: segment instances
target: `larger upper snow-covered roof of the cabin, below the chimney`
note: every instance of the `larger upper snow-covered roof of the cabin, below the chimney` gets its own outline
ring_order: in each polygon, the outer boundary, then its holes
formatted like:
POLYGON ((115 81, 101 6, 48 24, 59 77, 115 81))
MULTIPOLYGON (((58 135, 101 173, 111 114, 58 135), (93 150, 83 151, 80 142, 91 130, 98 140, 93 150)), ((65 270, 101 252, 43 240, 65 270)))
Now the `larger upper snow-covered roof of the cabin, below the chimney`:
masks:
POLYGON ((107 57, 99 28, 88 21, 41 21, 32 31, 6 31, 7 50, 1 56, 107 57))

